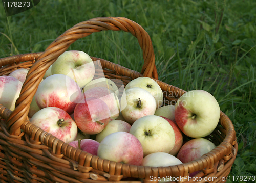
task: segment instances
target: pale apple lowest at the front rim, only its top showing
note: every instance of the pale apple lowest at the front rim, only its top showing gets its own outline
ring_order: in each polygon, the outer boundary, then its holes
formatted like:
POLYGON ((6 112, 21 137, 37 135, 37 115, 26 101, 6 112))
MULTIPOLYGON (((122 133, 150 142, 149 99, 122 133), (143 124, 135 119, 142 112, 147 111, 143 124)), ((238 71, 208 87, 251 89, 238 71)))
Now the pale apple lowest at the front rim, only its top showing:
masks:
MULTIPOLYGON (((166 152, 154 152, 145 156, 142 160, 141 166, 149 167, 168 167, 172 165, 179 165, 182 162, 175 156, 166 152)), ((158 180, 159 182, 170 182, 172 177, 150 177, 150 180, 158 180)))

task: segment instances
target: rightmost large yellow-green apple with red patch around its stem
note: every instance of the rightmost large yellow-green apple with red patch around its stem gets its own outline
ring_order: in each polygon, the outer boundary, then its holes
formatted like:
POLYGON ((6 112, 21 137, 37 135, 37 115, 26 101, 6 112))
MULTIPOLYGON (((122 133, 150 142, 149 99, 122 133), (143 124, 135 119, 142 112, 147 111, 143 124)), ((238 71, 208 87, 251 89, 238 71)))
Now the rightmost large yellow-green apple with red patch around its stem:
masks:
POLYGON ((175 121, 181 131, 193 138, 209 135, 220 119, 218 101, 204 90, 183 94, 175 105, 175 121))

